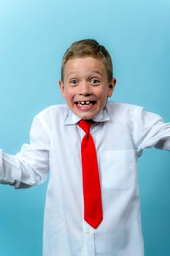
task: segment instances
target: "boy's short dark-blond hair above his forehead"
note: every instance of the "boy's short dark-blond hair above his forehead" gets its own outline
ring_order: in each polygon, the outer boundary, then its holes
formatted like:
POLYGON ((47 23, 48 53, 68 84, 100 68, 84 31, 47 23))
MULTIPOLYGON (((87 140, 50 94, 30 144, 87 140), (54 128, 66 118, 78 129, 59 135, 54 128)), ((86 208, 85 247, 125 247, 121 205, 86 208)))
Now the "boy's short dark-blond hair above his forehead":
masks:
POLYGON ((101 59, 104 63, 104 67, 107 70, 108 81, 112 80, 112 58, 109 52, 103 45, 99 45, 94 39, 82 39, 77 42, 73 42, 69 49, 63 55, 61 65, 61 80, 63 80, 64 67, 69 59, 93 57, 95 59, 101 59))

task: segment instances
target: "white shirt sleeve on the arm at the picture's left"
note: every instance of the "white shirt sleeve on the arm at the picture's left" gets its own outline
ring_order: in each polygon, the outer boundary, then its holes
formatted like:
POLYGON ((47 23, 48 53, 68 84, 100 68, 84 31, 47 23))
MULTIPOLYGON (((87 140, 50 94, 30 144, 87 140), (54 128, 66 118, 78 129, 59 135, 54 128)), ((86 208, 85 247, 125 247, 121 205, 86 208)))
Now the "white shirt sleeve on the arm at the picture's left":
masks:
POLYGON ((23 144, 16 155, 0 150, 0 183, 15 188, 41 184, 49 170, 50 131, 35 117, 30 131, 30 144, 23 144))

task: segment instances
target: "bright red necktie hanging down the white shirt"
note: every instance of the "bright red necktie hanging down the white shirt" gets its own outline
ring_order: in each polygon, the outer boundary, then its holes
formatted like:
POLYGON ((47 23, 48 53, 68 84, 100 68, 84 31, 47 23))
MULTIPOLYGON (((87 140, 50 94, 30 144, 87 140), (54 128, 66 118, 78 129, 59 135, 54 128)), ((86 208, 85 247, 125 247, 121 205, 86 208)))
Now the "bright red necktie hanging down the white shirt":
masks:
POLYGON ((91 121, 80 120, 78 124, 85 131, 81 144, 84 218, 96 228, 103 219, 96 148, 89 133, 91 121))

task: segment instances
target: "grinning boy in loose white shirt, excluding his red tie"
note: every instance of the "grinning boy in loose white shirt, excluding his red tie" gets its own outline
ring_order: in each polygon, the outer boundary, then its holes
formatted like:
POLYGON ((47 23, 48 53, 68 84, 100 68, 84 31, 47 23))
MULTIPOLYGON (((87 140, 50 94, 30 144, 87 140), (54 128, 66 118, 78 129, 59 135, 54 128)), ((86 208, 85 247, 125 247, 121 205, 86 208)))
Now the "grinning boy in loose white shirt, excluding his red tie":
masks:
POLYGON ((45 181, 50 169, 44 256, 144 255, 136 162, 144 148, 170 150, 170 124, 141 107, 107 102, 115 83, 106 48, 93 39, 74 42, 63 56, 59 81, 66 105, 34 118, 31 142, 17 155, 1 151, 2 184, 31 187, 45 181), (96 227, 84 219, 81 119, 93 120, 101 192, 96 227))

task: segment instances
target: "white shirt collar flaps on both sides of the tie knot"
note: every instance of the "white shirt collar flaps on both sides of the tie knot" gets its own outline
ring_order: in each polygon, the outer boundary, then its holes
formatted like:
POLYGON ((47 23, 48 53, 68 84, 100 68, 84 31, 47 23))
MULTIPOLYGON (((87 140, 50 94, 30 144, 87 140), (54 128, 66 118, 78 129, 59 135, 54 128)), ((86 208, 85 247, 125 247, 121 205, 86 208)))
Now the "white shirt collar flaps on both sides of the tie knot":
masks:
MULTIPOLYGON (((77 124, 78 121, 80 121, 81 118, 79 116, 76 116, 71 110, 68 112, 68 116, 66 117, 65 124, 66 125, 72 125, 77 124)), ((107 108, 105 107, 103 110, 101 110, 100 113, 98 113, 97 116, 93 118, 93 121, 96 122, 103 122, 110 120, 109 115, 107 113, 107 108)))

